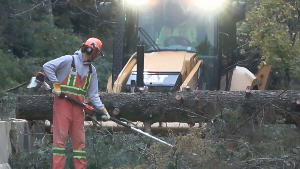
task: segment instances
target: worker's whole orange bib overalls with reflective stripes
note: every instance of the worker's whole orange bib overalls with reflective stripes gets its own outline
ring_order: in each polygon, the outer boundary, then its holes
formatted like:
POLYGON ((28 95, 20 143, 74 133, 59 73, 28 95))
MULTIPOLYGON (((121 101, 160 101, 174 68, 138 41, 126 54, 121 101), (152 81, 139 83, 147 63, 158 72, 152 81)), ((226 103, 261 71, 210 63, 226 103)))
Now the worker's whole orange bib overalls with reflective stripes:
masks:
MULTIPOLYGON (((74 56, 71 70, 61 83, 61 92, 66 96, 83 102, 85 93, 90 84, 92 68, 89 65, 88 74, 81 80, 75 68, 74 56)), ((53 103, 53 167, 64 169, 65 142, 70 134, 73 161, 75 169, 86 169, 85 158, 85 133, 83 107, 73 104, 65 98, 54 97, 53 103)))

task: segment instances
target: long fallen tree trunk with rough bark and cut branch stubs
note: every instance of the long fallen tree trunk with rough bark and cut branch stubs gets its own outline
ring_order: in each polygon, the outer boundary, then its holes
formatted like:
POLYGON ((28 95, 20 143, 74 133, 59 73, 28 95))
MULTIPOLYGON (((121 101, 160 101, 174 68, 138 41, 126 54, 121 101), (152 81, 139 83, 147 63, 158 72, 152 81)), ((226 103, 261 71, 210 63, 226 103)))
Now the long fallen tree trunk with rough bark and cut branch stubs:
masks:
MULTIPOLYGON (((274 123, 281 116, 286 124, 300 122, 298 91, 190 91, 177 93, 99 93, 111 116, 129 121, 186 122, 194 125, 220 115, 224 108, 238 115, 264 113, 274 123), (116 110, 119 111, 116 111, 116 110), (113 113, 113 110, 114 113, 113 113)), ((53 100, 49 95, 19 95, 16 118, 51 120, 53 100)), ((257 115, 254 115, 255 118, 257 115)), ((97 119, 101 118, 97 116, 97 119)))

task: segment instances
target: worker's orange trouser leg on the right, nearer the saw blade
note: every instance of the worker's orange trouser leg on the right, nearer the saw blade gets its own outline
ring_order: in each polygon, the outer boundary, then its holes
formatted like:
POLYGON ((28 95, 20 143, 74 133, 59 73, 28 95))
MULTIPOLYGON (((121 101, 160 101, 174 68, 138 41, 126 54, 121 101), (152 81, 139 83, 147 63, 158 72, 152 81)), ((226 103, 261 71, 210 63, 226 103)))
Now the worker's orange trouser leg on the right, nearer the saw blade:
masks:
POLYGON ((83 108, 73 104, 73 122, 70 126, 70 137, 73 148, 73 161, 75 169, 86 169, 85 134, 83 108))

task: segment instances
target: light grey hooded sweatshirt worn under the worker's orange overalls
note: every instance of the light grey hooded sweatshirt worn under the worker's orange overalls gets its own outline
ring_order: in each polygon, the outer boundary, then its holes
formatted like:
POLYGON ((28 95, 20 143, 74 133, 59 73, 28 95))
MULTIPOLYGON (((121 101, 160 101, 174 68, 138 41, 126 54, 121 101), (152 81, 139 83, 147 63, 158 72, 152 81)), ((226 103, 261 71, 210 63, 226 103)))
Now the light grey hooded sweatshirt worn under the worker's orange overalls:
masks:
MULTIPOLYGON (((88 64, 83 65, 82 53, 80 50, 77 50, 73 56, 75 60, 76 71, 81 76, 81 80, 82 80, 83 77, 88 74, 89 65, 88 64)), ((72 56, 65 55, 57 59, 51 60, 49 62, 46 62, 43 65, 43 70, 45 75, 51 81, 51 83, 53 82, 61 83, 70 73, 71 64, 72 64, 72 56), (57 77, 55 76, 55 73, 57 74, 57 77)), ((96 69, 94 65, 91 66, 92 66, 93 73, 91 75, 91 82, 87 91, 88 98, 95 105, 96 109, 103 110, 104 104, 102 104, 102 101, 98 96, 98 77, 97 77, 96 69)))

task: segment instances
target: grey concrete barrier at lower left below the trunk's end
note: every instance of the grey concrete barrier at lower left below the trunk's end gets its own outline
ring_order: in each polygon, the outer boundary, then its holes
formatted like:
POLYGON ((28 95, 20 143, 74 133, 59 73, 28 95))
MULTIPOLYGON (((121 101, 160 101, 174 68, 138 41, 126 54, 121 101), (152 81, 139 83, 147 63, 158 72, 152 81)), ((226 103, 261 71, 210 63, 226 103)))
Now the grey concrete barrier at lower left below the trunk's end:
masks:
POLYGON ((32 122, 30 127, 26 120, 8 119, 7 121, 0 121, 0 169, 10 168, 7 164, 8 159, 16 149, 31 152, 37 148, 34 145, 35 139, 41 140, 44 134, 33 133, 45 133, 43 122, 32 122))

